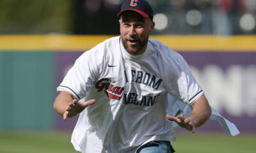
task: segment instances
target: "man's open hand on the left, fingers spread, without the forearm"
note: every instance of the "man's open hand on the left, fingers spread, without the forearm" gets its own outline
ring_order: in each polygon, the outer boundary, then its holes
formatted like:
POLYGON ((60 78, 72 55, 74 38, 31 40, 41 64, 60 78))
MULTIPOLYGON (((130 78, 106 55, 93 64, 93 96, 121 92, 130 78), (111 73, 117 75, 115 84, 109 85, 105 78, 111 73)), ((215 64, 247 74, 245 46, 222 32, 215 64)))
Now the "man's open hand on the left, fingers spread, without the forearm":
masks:
POLYGON ((66 120, 67 117, 74 117, 77 113, 81 113, 86 106, 93 105, 95 102, 95 99, 86 102, 78 102, 77 99, 73 99, 63 113, 63 120, 66 120))

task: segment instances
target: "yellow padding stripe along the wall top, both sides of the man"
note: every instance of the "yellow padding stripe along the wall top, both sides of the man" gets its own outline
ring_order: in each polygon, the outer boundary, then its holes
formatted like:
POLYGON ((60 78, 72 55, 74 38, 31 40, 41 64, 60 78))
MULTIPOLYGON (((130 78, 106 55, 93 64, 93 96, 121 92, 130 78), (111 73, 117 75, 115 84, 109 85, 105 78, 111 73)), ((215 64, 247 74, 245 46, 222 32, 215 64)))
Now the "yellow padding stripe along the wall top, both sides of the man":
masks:
MULTIPOLYGON (((0 35, 0 50, 88 50, 110 35, 0 35)), ((173 50, 256 52, 256 36, 152 35, 173 50)))

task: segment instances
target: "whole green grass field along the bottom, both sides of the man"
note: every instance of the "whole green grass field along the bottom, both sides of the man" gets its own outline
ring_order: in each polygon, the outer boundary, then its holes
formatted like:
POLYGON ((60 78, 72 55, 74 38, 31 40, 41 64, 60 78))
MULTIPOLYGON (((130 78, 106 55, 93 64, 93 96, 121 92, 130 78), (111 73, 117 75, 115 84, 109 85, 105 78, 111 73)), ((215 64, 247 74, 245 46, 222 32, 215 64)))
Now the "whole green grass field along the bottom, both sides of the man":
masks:
MULTIPOLYGON (((1 153, 77 153, 70 132, 0 132, 1 153)), ((256 133, 232 137, 227 133, 177 133, 177 153, 254 153, 256 133)))

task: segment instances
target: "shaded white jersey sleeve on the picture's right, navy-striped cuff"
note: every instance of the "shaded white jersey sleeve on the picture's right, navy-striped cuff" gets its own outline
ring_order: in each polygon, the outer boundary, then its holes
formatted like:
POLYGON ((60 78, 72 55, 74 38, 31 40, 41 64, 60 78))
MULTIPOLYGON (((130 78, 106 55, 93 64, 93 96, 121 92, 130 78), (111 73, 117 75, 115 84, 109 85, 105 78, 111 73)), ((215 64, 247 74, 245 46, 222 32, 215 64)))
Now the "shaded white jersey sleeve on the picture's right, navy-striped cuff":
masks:
POLYGON ((193 105, 204 91, 196 82, 184 58, 172 50, 163 57, 164 86, 176 99, 193 105))

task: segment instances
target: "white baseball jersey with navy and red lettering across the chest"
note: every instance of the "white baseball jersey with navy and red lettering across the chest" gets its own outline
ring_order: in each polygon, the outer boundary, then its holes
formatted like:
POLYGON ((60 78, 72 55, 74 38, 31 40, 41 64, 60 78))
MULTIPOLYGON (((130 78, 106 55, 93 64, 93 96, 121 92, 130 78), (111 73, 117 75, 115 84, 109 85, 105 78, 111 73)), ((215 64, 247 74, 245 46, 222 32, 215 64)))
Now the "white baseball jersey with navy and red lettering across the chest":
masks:
POLYGON ((134 56, 120 36, 84 52, 57 90, 96 99, 72 134, 75 149, 88 153, 136 152, 151 140, 175 140, 165 117, 167 94, 189 105, 204 94, 180 54, 148 40, 147 50, 134 56))

